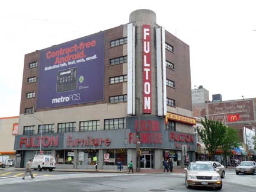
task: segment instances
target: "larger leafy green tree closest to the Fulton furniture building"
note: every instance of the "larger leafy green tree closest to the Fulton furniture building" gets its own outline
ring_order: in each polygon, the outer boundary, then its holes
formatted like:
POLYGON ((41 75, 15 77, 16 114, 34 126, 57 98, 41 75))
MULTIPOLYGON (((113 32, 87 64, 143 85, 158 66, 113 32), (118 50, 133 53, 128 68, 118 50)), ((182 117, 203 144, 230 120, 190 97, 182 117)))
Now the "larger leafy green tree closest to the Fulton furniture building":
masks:
POLYGON ((206 118, 204 121, 201 120, 201 124, 203 124, 204 130, 199 130, 199 135, 206 145, 207 151, 209 151, 211 160, 214 161, 218 146, 223 145, 226 126, 222 122, 207 120, 206 118))

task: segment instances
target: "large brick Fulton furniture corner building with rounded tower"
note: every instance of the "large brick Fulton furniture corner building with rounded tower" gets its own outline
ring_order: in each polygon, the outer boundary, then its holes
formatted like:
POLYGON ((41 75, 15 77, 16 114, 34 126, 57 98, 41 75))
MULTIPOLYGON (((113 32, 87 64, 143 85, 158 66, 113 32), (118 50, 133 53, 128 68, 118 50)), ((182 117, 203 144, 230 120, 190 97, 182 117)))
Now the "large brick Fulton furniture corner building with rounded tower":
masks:
POLYGON ((128 24, 25 55, 17 166, 40 152, 57 168, 183 166, 195 159, 191 109, 189 46, 139 9, 128 24))

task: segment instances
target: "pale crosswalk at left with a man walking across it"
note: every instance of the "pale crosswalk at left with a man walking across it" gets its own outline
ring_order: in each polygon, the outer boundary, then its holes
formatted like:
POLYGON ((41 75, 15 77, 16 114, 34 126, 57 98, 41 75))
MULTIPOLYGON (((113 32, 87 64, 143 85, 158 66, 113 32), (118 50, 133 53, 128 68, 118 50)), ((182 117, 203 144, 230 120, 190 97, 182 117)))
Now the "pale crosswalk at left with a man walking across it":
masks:
POLYGON ((106 173, 97 173, 97 174, 90 174, 90 173, 83 173, 83 174, 62 174, 62 175, 37 175, 34 174, 34 179, 32 180, 30 176, 25 177, 25 180, 22 177, 3 177, 0 178, 0 185, 8 185, 8 184, 17 184, 17 183, 32 183, 38 181, 48 181, 48 180, 62 180, 62 179, 69 179, 69 178, 86 178, 86 177, 115 177, 120 175, 127 175, 127 174, 106 174, 106 173))

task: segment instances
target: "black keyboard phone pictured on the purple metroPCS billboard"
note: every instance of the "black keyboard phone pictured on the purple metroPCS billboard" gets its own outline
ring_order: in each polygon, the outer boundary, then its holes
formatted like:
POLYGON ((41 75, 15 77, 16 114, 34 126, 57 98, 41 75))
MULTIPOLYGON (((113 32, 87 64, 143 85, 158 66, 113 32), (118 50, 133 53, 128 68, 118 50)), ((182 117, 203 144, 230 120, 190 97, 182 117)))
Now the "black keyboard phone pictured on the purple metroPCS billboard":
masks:
POLYGON ((65 92, 76 89, 77 68, 65 69, 57 72, 57 92, 65 92))

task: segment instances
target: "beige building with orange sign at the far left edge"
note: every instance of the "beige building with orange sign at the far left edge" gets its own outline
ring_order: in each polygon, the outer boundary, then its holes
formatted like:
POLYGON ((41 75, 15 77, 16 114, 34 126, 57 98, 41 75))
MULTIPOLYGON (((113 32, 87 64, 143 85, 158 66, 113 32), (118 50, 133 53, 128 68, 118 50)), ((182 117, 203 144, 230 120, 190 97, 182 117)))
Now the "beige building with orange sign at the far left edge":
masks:
POLYGON ((14 140, 18 134, 18 116, 0 117, 0 156, 15 158, 14 140))

